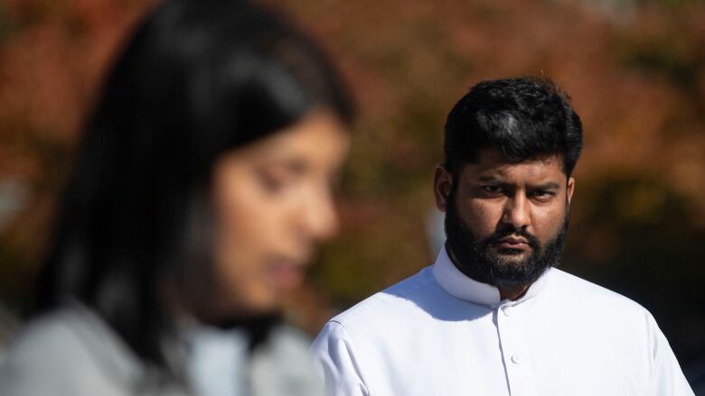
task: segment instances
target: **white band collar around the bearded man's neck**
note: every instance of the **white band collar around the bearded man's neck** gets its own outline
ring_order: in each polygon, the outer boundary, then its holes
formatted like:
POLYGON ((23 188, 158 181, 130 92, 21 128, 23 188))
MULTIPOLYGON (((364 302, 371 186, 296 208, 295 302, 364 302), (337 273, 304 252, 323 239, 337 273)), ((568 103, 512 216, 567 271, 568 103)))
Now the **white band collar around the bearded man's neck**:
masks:
POLYGON ((544 275, 550 271, 551 269, 544 272, 539 280, 533 282, 522 298, 508 301, 500 298, 500 292, 496 287, 475 281, 463 272, 460 272, 460 270, 456 268, 456 264, 448 257, 445 246, 441 248, 436 262, 433 264, 433 276, 436 278, 441 288, 458 299, 464 299, 465 301, 493 308, 503 303, 510 305, 519 304, 522 301, 535 297, 546 283, 547 277, 544 275))

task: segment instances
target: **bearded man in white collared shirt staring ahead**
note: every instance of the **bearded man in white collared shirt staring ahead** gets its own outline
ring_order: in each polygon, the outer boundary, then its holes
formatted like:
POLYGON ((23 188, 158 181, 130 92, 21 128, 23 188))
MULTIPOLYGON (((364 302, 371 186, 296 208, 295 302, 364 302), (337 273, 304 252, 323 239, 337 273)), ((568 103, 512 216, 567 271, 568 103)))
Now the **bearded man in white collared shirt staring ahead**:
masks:
POLYGON ((437 261, 331 319, 312 346, 331 395, 692 395, 630 299, 555 267, 582 126, 546 79, 484 81, 447 117, 437 261))

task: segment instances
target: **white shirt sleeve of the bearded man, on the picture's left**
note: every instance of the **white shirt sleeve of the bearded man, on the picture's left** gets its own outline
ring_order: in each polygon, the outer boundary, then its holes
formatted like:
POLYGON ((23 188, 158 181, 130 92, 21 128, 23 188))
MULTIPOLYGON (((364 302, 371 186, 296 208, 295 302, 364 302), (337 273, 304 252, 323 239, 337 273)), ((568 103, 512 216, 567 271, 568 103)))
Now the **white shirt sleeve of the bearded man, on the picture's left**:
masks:
POLYGON ((342 324, 330 321, 311 346, 316 370, 329 396, 369 396, 350 336, 342 324))

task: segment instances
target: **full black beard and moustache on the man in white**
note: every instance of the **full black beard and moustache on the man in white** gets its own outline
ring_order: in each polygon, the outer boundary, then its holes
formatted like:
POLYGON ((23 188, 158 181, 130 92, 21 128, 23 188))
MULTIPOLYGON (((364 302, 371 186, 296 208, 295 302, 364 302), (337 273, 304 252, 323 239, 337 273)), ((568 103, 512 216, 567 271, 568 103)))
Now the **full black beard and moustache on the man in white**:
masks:
MULTIPOLYGON (((460 272, 475 281, 493 285, 500 289, 515 289, 531 285, 550 267, 559 265, 560 256, 568 233, 568 207, 557 235, 541 246, 536 236, 524 228, 507 225, 482 240, 473 234, 460 218, 455 191, 451 191, 446 212, 447 248, 453 253, 454 262, 460 272), (531 246, 531 255, 522 261, 503 261, 493 252, 491 244, 508 235, 520 235, 531 246)), ((516 249, 505 249, 503 253, 520 253, 516 249)))

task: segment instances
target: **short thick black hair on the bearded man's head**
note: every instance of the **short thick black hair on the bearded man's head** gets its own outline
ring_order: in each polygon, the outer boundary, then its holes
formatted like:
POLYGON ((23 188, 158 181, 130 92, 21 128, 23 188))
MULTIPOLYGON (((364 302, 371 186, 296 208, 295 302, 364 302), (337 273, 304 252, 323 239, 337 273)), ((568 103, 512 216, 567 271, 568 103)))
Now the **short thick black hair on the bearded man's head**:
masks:
POLYGON ((482 81, 453 107, 445 129, 444 165, 454 178, 484 148, 495 148, 512 162, 559 155, 570 176, 583 144, 569 96, 547 78, 482 81))

